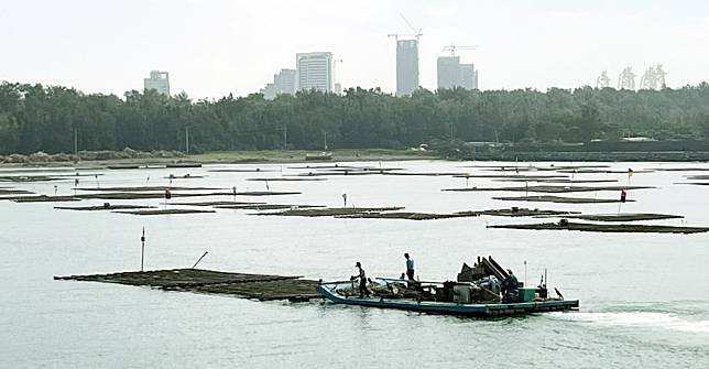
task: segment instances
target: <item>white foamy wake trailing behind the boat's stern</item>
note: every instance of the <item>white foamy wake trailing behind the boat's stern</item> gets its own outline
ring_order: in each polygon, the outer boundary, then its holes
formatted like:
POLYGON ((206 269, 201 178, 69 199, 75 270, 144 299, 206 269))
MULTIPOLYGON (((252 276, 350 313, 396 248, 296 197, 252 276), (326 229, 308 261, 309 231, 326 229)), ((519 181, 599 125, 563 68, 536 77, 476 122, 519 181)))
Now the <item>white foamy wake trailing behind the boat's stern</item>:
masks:
POLYGON ((669 313, 656 312, 575 312, 554 313, 550 316, 564 321, 599 324, 603 326, 633 328, 663 328, 668 330, 709 334, 709 321, 687 319, 669 313))

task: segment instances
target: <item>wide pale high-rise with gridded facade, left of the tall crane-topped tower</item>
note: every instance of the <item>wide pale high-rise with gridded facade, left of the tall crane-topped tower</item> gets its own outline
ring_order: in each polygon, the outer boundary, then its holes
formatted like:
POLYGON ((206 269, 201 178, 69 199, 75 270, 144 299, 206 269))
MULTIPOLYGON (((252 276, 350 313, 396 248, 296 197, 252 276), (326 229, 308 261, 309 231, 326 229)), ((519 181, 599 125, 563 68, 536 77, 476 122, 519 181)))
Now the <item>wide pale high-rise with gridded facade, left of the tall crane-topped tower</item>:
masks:
POLYGON ((298 53, 295 66, 298 90, 332 91, 332 53, 298 53))

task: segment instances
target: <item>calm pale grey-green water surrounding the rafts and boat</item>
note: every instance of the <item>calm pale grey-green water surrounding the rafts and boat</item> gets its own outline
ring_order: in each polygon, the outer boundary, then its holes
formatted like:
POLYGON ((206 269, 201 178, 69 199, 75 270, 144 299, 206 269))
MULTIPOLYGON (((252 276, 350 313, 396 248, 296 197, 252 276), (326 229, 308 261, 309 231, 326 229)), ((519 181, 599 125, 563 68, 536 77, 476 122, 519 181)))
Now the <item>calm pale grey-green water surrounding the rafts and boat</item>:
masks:
MULTIPOLYGON (((378 163, 359 163, 378 165, 378 163)), ((384 163, 411 171, 460 171, 471 163, 384 163)), ((481 163, 490 164, 490 163, 481 163)), ((509 164, 509 163, 508 163, 509 164)), ((543 165, 543 164, 539 164, 543 165)), ((613 163, 642 170, 708 164, 613 163)), ((170 173, 206 175, 174 185, 265 189, 249 177, 292 174, 293 165, 231 165, 274 173, 214 173, 189 170, 99 171, 101 186, 167 184, 170 173)), ((3 170, 3 173, 7 170, 3 170)), ((53 172, 39 172, 53 173, 53 172)), ((56 172, 54 172, 56 173, 56 172)), ((70 172, 69 172, 70 173, 70 172)), ((544 172, 544 174, 549 174, 544 172)), ((709 226, 709 186, 675 184, 701 172, 635 174, 636 203, 623 211, 685 215, 655 224, 709 226)), ((624 174, 577 174, 615 178, 624 174)), ((18 184, 40 193, 70 194, 73 180, 18 184)), ((0 184, 6 185, 6 184, 0 184)), ((7 184, 12 186, 12 184, 7 184)), ((95 186, 96 180, 81 180, 95 186)), ((406 206, 452 211, 514 205, 617 213, 618 204, 509 203, 492 196, 515 193, 449 193, 465 180, 452 177, 348 176, 321 182, 272 182, 272 191, 302 195, 271 203, 406 206)), ((471 180, 476 186, 514 185, 471 180)), ((523 195, 517 193, 516 195, 523 195)), ((570 196, 617 197, 617 192, 570 196)), ((223 198, 222 198, 223 199, 223 198)), ((253 198, 251 200, 258 200, 253 198)), ((183 200, 182 198, 178 200, 183 200)), ((185 199, 198 200, 196 198, 185 199)), ((201 200, 201 198, 199 199, 201 200)), ((248 198, 241 198, 248 200, 248 198)), ((101 204, 101 200, 84 202, 101 204)), ((159 205, 162 200, 113 202, 159 205)), ((78 205, 77 203, 65 203, 78 205)), ((533 221, 479 217, 432 221, 281 218, 244 210, 207 215, 138 217, 103 211, 53 209, 54 204, 0 202, 0 362, 6 368, 439 368, 471 367, 709 367, 709 236, 604 235, 487 229, 488 224, 533 221), (492 254, 504 267, 537 283, 544 268, 549 283, 567 299, 580 299, 578 313, 480 321, 324 303, 261 303, 228 296, 162 292, 146 287, 53 281, 53 275, 135 270, 140 230, 148 232, 146 268, 201 268, 342 279, 362 261, 371 275, 399 275, 402 253, 413 254, 422 279, 455 278, 463 261, 492 254)), ((163 205, 160 205, 163 206, 163 205)))

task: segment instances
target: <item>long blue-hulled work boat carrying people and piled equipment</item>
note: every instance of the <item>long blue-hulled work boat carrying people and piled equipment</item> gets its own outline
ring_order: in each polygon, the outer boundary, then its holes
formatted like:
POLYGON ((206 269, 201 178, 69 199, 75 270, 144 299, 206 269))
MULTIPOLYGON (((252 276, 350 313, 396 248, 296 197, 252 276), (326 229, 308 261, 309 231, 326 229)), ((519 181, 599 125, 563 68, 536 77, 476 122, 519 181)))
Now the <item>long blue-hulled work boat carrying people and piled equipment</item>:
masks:
MULTIPOLYGON (((418 313, 495 317, 534 313, 578 310, 578 300, 564 300, 547 293, 543 276, 536 287, 525 287, 515 282, 516 289, 501 292, 499 282, 509 281, 510 274, 491 258, 478 258, 473 268, 463 263, 457 281, 426 282, 403 279, 377 278, 369 287, 372 296, 356 296, 352 281, 323 282, 317 293, 335 304, 395 308, 418 313)), ((516 281, 516 280, 515 280, 516 281)))

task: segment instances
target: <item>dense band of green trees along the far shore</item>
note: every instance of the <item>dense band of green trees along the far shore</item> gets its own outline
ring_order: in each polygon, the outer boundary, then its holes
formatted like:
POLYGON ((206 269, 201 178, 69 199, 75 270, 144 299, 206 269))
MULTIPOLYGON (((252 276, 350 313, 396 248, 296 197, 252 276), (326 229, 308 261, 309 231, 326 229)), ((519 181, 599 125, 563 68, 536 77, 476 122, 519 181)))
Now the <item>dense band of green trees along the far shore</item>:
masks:
POLYGON ((709 139, 709 84, 663 90, 350 88, 193 101, 154 90, 123 97, 0 84, 0 154, 78 150, 190 151, 407 148, 439 140, 568 143, 709 139))

